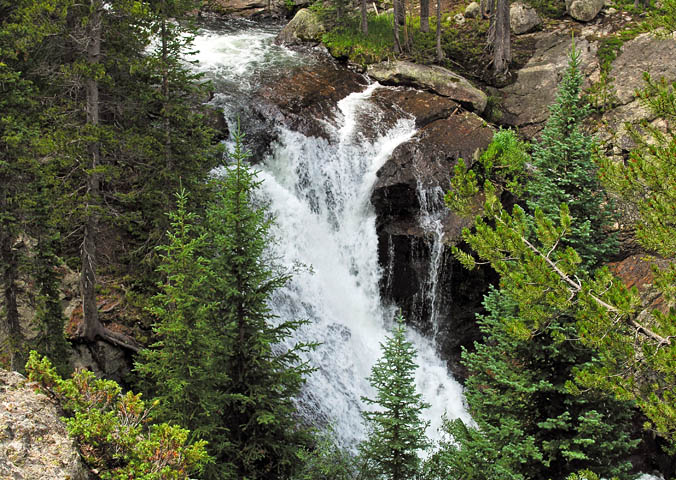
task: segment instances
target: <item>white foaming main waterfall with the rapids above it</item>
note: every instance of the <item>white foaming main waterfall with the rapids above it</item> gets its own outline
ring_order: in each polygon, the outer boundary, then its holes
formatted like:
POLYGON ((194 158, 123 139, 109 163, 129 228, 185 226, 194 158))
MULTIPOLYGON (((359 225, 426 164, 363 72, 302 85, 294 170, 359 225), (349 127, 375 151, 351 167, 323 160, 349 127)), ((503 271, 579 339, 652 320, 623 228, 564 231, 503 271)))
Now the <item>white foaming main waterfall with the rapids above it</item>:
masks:
MULTIPOLYGON (((278 75, 280 67, 303 61, 297 53, 272 46, 270 29, 245 27, 205 31, 196 42, 201 68, 231 88, 216 99, 226 115, 244 110, 237 96, 241 92, 246 101, 261 72, 278 75)), ((271 308, 282 319, 309 320, 292 342, 321 342, 308 354, 317 370, 298 403, 314 422, 333 424, 348 447, 363 438, 361 396, 373 396, 366 377, 394 315, 379 295, 382 272, 370 193, 377 170, 415 133, 414 120, 400 118, 393 127, 376 129, 370 139, 361 135, 360 119, 372 122, 379 115, 370 101, 379 88, 385 87, 373 84, 340 101, 334 118, 326 121, 328 139, 277 127, 271 154, 258 165, 261 193, 276 217, 271 253, 289 269, 301 265, 288 286, 274 294, 271 308)), ((437 435, 444 412, 469 421, 462 388, 433 343, 414 331, 409 338, 418 350, 418 389, 432 405, 425 414, 432 422, 430 436, 437 435)))

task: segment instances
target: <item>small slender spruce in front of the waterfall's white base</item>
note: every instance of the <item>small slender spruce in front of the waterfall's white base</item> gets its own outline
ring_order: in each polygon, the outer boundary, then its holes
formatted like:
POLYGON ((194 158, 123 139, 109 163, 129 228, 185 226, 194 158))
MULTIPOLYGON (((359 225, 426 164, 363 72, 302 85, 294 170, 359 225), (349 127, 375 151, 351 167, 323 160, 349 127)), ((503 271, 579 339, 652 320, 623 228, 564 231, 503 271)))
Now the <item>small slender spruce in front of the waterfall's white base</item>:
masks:
POLYGON ((420 468, 419 452, 429 442, 425 436, 428 423, 420 418, 429 404, 416 392, 414 374, 416 351, 406 340, 401 314, 392 336, 381 343, 383 355, 368 378, 376 389, 376 398, 362 397, 376 410, 364 411, 368 438, 359 446, 362 470, 367 478, 407 480, 420 468))

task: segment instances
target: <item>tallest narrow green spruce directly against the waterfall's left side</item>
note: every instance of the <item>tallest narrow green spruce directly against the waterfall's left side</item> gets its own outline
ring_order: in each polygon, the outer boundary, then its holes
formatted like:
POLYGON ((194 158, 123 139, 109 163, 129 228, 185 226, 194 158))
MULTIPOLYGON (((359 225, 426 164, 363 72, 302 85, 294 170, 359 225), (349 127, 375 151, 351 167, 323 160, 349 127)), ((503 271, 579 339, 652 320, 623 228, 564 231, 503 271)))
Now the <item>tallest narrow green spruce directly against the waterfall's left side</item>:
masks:
POLYGON ((246 164, 242 139, 235 132, 232 162, 215 182, 205 218, 219 328, 232 334, 227 356, 219 359, 230 375, 223 404, 230 443, 220 460, 233 464, 238 479, 274 480, 293 474, 299 452, 312 442, 293 402, 311 371, 299 353, 312 346, 283 347, 304 322, 279 322, 270 312, 270 296, 288 275, 268 257, 272 219, 256 204, 260 181, 246 164))

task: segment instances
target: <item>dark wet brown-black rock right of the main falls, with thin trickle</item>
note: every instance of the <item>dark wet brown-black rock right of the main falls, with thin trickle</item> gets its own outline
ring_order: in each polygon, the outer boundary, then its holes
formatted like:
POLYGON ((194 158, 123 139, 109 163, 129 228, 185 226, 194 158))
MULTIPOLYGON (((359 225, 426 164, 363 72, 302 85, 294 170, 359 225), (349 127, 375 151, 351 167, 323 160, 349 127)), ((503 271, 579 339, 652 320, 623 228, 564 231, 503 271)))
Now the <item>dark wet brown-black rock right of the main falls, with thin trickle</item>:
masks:
MULTIPOLYGON (((407 104, 404 101, 401 106, 407 104)), ((470 226, 472 219, 448 211, 442 197, 457 159, 472 159, 492 136, 492 129, 469 112, 433 120, 395 149, 379 170, 371 196, 378 215, 378 257, 385 269, 382 295, 400 306, 419 330, 437 332, 440 349, 459 376, 464 374, 459 362, 461 347, 478 338, 474 317, 494 279, 488 269, 464 270, 451 255, 450 245, 460 241, 462 229, 470 226), (421 217, 421 209, 432 211, 439 219, 440 237, 421 217), (443 245, 435 246, 439 241, 443 245), (435 254, 439 257, 433 279, 435 254), (436 298, 434 304, 431 296, 436 298), (431 324, 433 312, 436 325, 431 324)))

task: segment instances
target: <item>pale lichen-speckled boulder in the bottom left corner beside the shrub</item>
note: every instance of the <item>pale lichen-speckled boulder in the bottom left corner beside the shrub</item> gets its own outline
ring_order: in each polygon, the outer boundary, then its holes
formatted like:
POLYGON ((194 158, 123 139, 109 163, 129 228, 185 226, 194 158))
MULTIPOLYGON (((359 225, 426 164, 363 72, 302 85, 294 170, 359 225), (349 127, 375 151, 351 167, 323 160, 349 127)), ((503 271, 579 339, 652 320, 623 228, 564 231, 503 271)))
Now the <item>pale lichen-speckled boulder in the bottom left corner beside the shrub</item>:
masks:
POLYGON ((0 369, 0 478, 88 480, 60 412, 35 385, 0 369))

